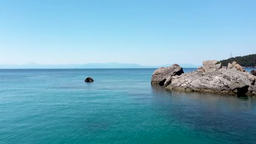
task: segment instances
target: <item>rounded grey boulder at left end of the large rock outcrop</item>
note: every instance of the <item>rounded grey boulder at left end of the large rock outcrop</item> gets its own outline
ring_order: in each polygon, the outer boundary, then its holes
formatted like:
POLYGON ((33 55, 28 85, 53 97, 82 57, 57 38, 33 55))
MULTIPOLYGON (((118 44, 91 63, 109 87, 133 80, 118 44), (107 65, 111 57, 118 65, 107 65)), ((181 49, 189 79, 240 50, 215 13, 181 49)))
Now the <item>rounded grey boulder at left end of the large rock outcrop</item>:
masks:
POLYGON ((173 64, 170 67, 161 67, 156 69, 151 77, 152 84, 168 85, 171 83, 172 76, 183 74, 183 69, 178 64, 173 64))

